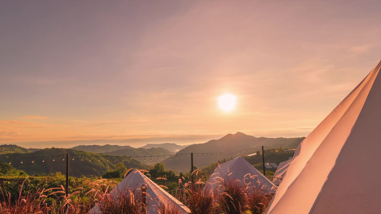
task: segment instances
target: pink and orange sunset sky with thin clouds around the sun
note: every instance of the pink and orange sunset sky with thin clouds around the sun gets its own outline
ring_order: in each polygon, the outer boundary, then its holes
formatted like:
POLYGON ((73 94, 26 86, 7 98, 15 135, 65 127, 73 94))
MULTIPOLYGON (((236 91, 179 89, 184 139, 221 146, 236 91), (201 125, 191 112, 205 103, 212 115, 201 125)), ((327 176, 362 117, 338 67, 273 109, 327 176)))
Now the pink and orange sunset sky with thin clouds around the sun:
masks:
POLYGON ((307 136, 381 59, 380 1, 2 1, 0 143, 307 136), (234 94, 224 112, 218 97, 234 94))

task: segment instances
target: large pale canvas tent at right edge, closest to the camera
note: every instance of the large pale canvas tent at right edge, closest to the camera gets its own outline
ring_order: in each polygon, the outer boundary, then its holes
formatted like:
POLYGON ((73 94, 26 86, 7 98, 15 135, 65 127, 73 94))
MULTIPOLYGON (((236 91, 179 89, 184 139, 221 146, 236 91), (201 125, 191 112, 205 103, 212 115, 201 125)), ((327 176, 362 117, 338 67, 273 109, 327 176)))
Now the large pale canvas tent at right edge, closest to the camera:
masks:
POLYGON ((266 214, 381 213, 380 67, 301 142, 266 214))

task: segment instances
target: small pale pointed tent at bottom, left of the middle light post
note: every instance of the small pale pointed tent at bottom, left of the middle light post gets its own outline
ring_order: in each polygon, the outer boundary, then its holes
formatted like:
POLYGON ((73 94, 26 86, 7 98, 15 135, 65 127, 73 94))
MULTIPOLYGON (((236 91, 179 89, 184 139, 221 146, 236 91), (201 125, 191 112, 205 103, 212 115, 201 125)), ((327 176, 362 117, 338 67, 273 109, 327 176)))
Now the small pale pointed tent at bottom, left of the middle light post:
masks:
MULTIPOLYGON (((184 204, 163 190, 161 187, 155 184, 155 182, 150 180, 137 169, 134 169, 132 172, 130 172, 130 174, 128 174, 128 176, 126 176, 122 182, 120 182, 114 189, 112 189, 109 194, 117 195, 118 193, 123 192, 123 190, 126 188, 137 189, 140 188, 140 186, 144 183, 147 184, 147 214, 158 214, 157 207, 159 203, 174 206, 176 209, 178 208, 180 214, 191 213, 189 208, 187 208, 184 204), (166 200, 164 198, 166 198, 166 200)), ((88 214, 101 214, 98 205, 96 204, 88 212, 88 214)))

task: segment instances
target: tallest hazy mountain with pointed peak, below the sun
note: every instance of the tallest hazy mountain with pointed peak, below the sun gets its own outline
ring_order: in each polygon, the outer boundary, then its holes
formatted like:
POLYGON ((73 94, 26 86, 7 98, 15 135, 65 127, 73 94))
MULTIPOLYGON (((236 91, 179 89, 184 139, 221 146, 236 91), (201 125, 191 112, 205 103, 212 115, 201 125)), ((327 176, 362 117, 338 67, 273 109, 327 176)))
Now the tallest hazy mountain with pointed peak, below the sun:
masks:
MULTIPOLYGON (((240 132, 235 134, 227 134, 226 136, 218 139, 211 140, 203 144, 194 144, 187 146, 184 149, 181 149, 176 154, 184 154, 193 152, 193 165, 197 168, 201 169, 205 166, 208 166, 211 163, 215 163, 222 158, 231 158, 238 157, 240 154, 234 153, 234 155, 229 155, 229 151, 239 151, 244 149, 251 149, 259 146, 266 146, 271 148, 276 148, 282 146, 283 148, 292 148, 295 149, 298 147, 301 141, 303 141, 305 137, 294 137, 294 138, 267 138, 267 137, 254 137, 250 135, 246 135, 240 132), (221 152, 221 154, 219 153, 221 152), (226 153, 224 153, 226 152, 226 153), (195 154, 199 153, 199 154, 195 154), (204 153, 204 155, 202 154, 204 153), (206 153, 214 153, 212 155, 207 155, 206 153), (216 153, 217 156, 216 156, 216 153), (202 157, 204 156, 204 157, 202 157), (207 157, 208 156, 208 157, 207 157)), ((258 149, 259 150, 259 149, 258 149)), ((254 153, 255 151, 251 151, 254 153)), ((230 153, 231 154, 231 153, 230 153)), ((242 154, 243 155, 243 154, 242 154)), ((176 172, 182 171, 190 171, 191 169, 191 158, 186 157, 186 155, 178 155, 178 158, 171 158, 162 161, 165 164, 166 169, 171 169, 176 172)))

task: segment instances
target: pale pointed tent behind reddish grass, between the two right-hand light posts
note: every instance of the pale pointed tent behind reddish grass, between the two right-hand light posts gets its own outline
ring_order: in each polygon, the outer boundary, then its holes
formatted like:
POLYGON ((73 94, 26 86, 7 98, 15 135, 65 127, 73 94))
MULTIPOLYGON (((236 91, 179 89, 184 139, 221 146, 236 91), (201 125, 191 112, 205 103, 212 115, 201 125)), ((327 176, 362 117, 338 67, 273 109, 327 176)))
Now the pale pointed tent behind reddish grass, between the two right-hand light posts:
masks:
POLYGON ((222 179, 240 180, 246 184, 250 183, 250 186, 255 186, 257 189, 264 187, 268 194, 274 193, 277 189, 271 180, 242 157, 234 158, 217 166, 205 184, 204 190, 209 188, 215 190, 222 179))

